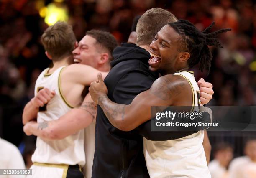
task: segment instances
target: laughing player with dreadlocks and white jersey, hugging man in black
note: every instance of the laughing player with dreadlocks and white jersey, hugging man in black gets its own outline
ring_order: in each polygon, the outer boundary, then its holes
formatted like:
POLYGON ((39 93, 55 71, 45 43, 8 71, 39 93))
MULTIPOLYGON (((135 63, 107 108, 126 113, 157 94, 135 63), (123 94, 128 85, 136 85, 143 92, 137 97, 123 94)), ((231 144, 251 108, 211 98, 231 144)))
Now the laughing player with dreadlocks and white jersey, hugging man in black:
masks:
MULTIPOLYGON (((213 23, 200 32, 187 20, 165 25, 150 45, 151 71, 161 77, 151 88, 136 96, 131 104, 117 104, 108 99, 107 87, 101 75, 89 88, 94 102, 100 105, 110 123, 120 130, 132 130, 151 118, 151 106, 192 106, 199 110, 199 87, 193 72, 187 71, 200 63, 200 69, 210 70, 212 54, 208 46, 222 47, 216 39, 222 29, 208 33, 213 23)), ((150 177, 210 178, 204 149, 203 132, 181 139, 151 141, 143 139, 144 156, 150 177)))

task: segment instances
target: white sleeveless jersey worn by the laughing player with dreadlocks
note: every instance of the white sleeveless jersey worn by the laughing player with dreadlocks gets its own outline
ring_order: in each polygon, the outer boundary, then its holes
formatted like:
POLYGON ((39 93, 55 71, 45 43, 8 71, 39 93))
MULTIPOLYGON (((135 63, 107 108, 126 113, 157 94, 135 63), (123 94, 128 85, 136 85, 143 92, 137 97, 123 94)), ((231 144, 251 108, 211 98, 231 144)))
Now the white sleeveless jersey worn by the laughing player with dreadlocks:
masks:
MULTIPOLYGON (((174 75, 187 79, 194 94, 192 110, 199 110, 199 88, 193 72, 179 71, 174 75)), ((203 139, 203 131, 168 141, 151 141, 143 137, 144 156, 150 177, 210 178, 203 139)))

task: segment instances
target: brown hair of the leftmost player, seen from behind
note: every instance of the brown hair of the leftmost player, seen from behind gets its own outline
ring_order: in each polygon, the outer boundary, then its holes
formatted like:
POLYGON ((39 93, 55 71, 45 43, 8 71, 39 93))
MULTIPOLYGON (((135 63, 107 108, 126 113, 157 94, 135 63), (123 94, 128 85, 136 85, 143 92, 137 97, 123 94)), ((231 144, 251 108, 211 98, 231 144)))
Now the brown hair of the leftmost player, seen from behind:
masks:
POLYGON ((45 51, 53 60, 60 60, 63 57, 72 55, 74 43, 77 41, 72 26, 66 22, 56 22, 49 26, 41 36, 45 51))

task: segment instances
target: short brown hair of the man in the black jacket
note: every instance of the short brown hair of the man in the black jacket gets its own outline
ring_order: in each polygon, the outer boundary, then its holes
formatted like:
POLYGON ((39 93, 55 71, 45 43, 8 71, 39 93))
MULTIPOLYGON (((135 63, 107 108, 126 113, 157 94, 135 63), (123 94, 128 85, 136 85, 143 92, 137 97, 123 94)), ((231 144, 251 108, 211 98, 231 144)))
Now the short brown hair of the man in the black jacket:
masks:
POLYGON ((167 10, 161 8, 152 8, 146 11, 139 18, 136 34, 137 45, 150 44, 154 36, 164 25, 171 22, 176 22, 177 18, 167 10))

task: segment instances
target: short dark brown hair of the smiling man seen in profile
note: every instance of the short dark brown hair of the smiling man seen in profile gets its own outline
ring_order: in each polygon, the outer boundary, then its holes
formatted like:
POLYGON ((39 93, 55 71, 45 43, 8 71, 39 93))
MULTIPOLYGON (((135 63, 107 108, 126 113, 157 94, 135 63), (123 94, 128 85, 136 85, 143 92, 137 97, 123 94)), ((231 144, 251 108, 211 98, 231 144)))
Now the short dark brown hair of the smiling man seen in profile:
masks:
POLYGON ((118 46, 118 44, 115 40, 115 37, 111 33, 100 30, 90 30, 86 32, 86 35, 95 38, 97 43, 99 43, 103 48, 105 48, 108 51, 109 61, 113 60, 112 53, 115 47, 118 46))

